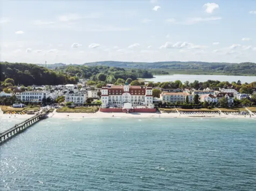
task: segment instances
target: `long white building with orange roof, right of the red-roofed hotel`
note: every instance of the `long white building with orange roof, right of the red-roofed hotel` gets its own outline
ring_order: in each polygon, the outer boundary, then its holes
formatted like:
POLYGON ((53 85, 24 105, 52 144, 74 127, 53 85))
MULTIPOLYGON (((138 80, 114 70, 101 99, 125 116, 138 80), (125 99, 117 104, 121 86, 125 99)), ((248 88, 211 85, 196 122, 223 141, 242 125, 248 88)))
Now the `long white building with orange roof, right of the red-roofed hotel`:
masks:
POLYGON ((185 102, 186 96, 189 97, 189 102, 193 101, 194 95, 186 92, 162 92, 160 94, 160 99, 163 102, 171 102, 174 104, 176 101, 185 102))

